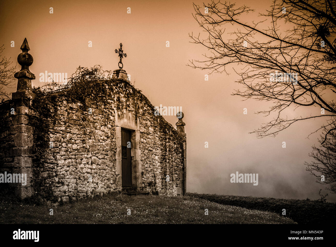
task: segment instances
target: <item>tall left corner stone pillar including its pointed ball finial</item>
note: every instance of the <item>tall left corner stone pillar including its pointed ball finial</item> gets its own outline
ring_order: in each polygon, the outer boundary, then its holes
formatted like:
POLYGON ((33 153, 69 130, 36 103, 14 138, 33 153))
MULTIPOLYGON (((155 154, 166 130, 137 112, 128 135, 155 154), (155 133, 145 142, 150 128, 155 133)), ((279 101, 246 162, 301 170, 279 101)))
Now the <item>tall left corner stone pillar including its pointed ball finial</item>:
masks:
POLYGON ((22 53, 17 56, 21 70, 14 74, 17 78, 17 90, 12 93, 15 114, 12 117, 11 133, 14 134, 13 174, 27 174, 27 184, 13 183, 14 194, 20 199, 31 197, 34 194, 33 180, 33 145, 34 129, 31 125, 31 115, 35 94, 32 92, 32 81, 35 75, 29 71, 33 64, 33 56, 28 53, 29 45, 25 38, 20 48, 22 53))

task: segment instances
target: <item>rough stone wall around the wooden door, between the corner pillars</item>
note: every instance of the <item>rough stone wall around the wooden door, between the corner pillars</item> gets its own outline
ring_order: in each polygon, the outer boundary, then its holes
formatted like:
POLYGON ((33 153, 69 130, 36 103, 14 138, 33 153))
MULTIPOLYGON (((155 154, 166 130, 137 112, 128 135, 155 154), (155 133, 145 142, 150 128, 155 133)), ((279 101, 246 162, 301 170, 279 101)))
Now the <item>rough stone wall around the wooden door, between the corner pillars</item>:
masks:
MULTIPOLYGON (((36 197, 57 204, 123 191, 121 128, 132 131, 132 190, 185 193, 185 134, 155 116, 154 106, 139 90, 125 80, 107 80, 94 82, 92 93, 80 100, 67 92, 49 93, 43 105, 38 98, 33 100, 30 173, 36 197), (95 83, 106 88, 104 94, 95 90, 95 83)), ((12 118, 8 113, 1 115, 12 118)), ((0 167, 15 166, 14 136, 8 130, 13 124, 9 121, 0 130, 0 167)))

